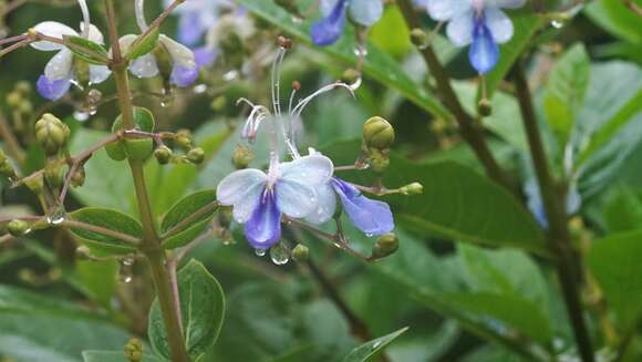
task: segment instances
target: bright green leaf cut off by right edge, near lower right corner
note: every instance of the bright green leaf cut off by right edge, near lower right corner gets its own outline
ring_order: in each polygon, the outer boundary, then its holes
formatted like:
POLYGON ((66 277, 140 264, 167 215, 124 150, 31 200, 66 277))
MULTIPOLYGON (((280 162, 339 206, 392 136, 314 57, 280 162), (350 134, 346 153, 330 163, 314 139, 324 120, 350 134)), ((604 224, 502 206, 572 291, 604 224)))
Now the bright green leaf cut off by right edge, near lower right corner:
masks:
POLYGON ((615 234, 591 247, 588 265, 623 329, 642 313, 642 230, 615 234))

